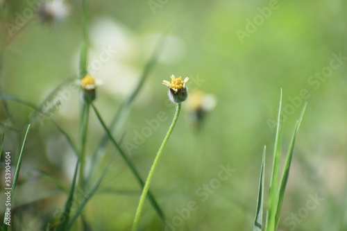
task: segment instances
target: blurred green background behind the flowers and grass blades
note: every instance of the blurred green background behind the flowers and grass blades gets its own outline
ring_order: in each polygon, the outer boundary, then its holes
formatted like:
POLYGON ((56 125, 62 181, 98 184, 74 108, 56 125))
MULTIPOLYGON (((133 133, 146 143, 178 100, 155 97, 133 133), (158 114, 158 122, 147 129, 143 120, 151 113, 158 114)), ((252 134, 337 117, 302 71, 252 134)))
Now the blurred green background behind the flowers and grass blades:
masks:
MULTIPOLYGON (((70 15, 64 22, 49 25, 33 20, 5 45, 1 94, 39 105, 62 81, 78 77, 81 3, 65 3, 70 15)), ((22 15, 28 7, 26 1, 10 1, 8 22, 15 24, 16 13, 22 15)), ((205 112, 200 129, 193 123, 192 108, 183 108, 151 185, 169 221, 182 221, 176 230, 252 229, 264 145, 269 185, 273 121, 281 88, 287 118, 283 154, 303 102, 308 105, 298 132, 279 230, 347 230, 346 10, 346 1, 328 0, 88 2, 90 72, 103 81, 97 89, 96 106, 107 122, 134 89, 155 44, 169 31, 158 62, 114 134, 118 139, 124 135, 123 147, 142 178, 148 174, 173 115, 174 105, 167 103, 162 80, 169 80, 171 74, 189 76, 189 93, 199 89, 212 95, 216 103, 205 112), (240 39, 240 35, 245 37, 240 39), (108 60, 98 62, 105 50, 108 60), (137 132, 141 134, 158 112, 164 112, 167 119, 130 151, 127 144, 134 144, 137 132), (235 171, 203 201, 198 191, 218 178, 221 164, 235 171), (323 200, 314 209, 305 209, 315 195, 323 200), (192 200, 197 209, 187 217, 180 215, 192 200)), ((10 36, 5 38, 8 41, 10 36)), ((74 92, 67 98, 51 118, 35 123, 29 134, 22 182, 16 192, 17 230, 43 230, 42 225, 64 206, 62 191, 30 173, 40 169, 67 187, 71 183, 76 157, 50 122, 58 121, 77 140, 81 95, 74 92)), ((8 108, 18 126, 33 113, 19 103, 8 103, 8 108)), ((9 123, 3 105, 0 118, 1 123, 9 123)), ((88 157, 102 136, 103 129, 91 113, 88 157)), ((6 132, 4 151, 18 152, 22 137, 23 133, 6 132)), ((114 151, 108 146, 104 163, 114 151)), ((102 169, 103 164, 91 182, 102 169)), ((90 228, 129 230, 139 194, 137 182, 117 156, 85 209, 90 228)), ((0 208, 4 209, 2 196, 0 208)), ((164 230, 148 202, 140 228, 164 230)))

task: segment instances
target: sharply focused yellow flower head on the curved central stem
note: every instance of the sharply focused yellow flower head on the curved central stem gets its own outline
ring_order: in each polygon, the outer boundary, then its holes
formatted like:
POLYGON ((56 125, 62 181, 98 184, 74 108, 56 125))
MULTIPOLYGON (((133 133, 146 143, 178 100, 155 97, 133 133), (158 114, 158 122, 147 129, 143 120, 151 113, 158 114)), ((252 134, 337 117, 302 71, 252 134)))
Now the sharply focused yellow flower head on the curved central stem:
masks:
POLYGON ((171 77, 171 83, 167 80, 163 80, 162 84, 169 87, 169 99, 173 103, 181 103, 187 99, 188 91, 187 91, 187 82, 189 80, 188 77, 185 80, 182 80, 182 77, 176 78, 174 75, 171 77))

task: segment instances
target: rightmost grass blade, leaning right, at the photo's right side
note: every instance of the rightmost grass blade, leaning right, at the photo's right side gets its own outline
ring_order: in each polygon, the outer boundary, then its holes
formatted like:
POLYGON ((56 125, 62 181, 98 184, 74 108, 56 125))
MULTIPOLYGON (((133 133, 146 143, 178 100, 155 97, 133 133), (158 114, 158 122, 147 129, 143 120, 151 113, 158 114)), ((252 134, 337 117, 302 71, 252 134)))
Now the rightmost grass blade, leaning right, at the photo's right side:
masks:
POLYGON ((281 213, 281 209, 282 209, 283 198, 285 198, 285 188, 287 186, 287 181, 288 181, 288 177, 289 177, 289 169, 290 169, 291 160, 293 157, 296 133, 298 132, 298 128, 300 126, 301 121, 303 120, 303 113, 305 112, 306 105, 307 105, 307 103, 305 103, 305 105, 304 105, 304 108, 301 112, 301 117, 296 122, 296 128, 294 130, 293 137, 291 138, 291 142, 289 144, 289 150, 287 153, 287 158, 285 160, 285 167, 283 169, 282 178, 280 181, 280 191, 278 193, 278 205, 277 205, 277 209, 276 209, 275 230, 277 230, 277 228, 278 228, 278 222, 280 221, 280 213, 281 213))

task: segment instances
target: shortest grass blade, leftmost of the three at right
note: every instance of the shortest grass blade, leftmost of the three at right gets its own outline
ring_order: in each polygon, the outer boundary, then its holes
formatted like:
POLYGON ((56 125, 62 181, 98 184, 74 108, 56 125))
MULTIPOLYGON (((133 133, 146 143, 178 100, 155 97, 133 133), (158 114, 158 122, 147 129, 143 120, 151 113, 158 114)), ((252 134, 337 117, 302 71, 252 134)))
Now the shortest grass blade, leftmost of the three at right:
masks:
POLYGON ((262 231, 262 211, 263 211, 263 205, 264 205, 263 200, 264 200, 265 156, 266 156, 266 146, 264 146, 264 151, 262 153, 262 168, 260 170, 257 212, 255 214, 253 231, 262 231))

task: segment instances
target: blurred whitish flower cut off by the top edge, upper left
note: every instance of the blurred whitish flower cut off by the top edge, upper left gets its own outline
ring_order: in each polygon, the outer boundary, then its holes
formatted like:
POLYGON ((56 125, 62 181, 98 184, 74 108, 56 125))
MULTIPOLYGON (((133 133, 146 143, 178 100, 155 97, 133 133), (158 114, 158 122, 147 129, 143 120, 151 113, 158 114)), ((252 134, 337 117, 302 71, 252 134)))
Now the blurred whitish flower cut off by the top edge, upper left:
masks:
POLYGON ((64 0, 45 1, 41 3, 37 17, 42 22, 58 24, 69 15, 69 11, 69 6, 64 3, 64 0))

